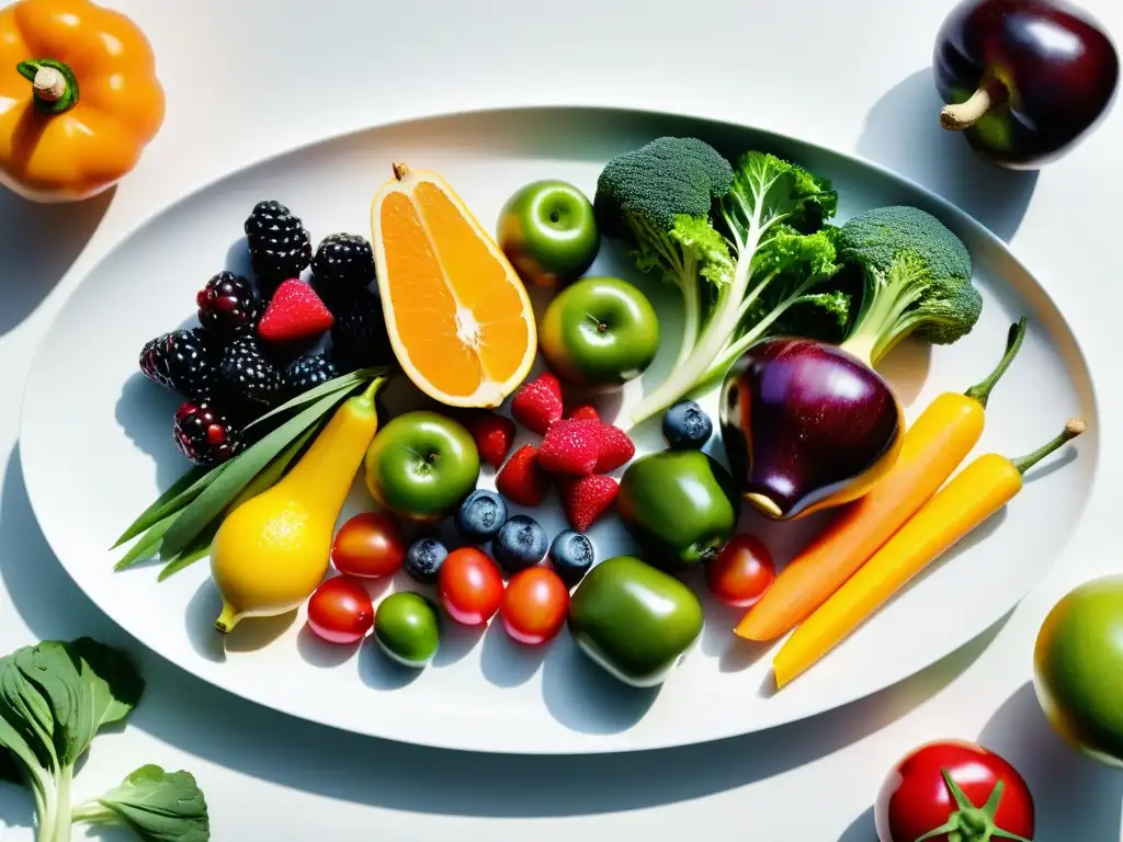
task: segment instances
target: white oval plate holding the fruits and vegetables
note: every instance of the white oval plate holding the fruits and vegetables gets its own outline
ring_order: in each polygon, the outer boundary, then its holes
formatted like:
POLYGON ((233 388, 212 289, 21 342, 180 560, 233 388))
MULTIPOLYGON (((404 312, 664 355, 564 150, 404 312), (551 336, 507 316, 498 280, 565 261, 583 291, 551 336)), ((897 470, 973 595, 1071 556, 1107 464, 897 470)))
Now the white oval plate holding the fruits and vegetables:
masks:
MULTIPOLYGON (((655 300, 665 335, 675 336, 672 290, 636 278, 612 247, 602 249, 593 272, 636 280, 655 300)), ((648 384, 666 370, 674 345, 660 350, 648 384)), ((639 387, 626 392, 626 403, 639 387)), ((604 409, 612 414, 620 406, 604 409)), ((1087 368, 1049 296, 1001 241, 932 194, 844 155, 742 127, 630 111, 518 109, 326 140, 238 172, 152 219, 85 278, 43 342, 28 381, 20 452, 36 515, 74 580, 138 640, 200 678, 354 732, 466 750, 574 753, 706 741, 798 720, 898 681, 982 633, 1049 569, 1076 528, 1096 465, 1094 415, 1087 368), (285 202, 314 241, 336 231, 366 235, 371 198, 391 162, 407 161, 442 173, 493 222, 508 195, 536 179, 566 179, 592 194, 610 156, 663 134, 703 137, 729 154, 766 148, 798 161, 834 181, 840 220, 891 203, 942 218, 973 253, 983 317, 953 346, 931 353, 902 346, 883 372, 912 419, 935 394, 980 379, 1008 324, 1025 314, 1029 337, 994 394, 979 447, 1031 450, 1079 412, 1092 431, 1053 460, 1065 469, 1038 470, 1038 482, 1006 512, 776 695, 764 689, 770 650, 734 640, 740 612, 709 601, 701 644, 661 688, 634 690, 587 662, 565 633, 546 649, 527 650, 495 624, 482 638, 450 629, 423 672, 391 666, 374 647, 320 644, 300 616, 246 623, 223 650, 211 626, 218 603, 206 562, 163 584, 154 568, 112 571, 117 553, 106 548, 188 467, 171 441, 177 401, 140 376, 137 354, 153 336, 193 321, 194 293, 210 275, 245 266, 241 223, 255 202, 285 202), (1067 464, 1077 449, 1079 458, 1067 464)), ((640 442, 641 450, 657 446, 651 438, 640 442)), ((483 483, 491 482, 489 473, 483 483)), ((356 489, 345 516, 367 505, 356 489)), ((553 500, 536 516, 551 533, 563 527, 553 500)), ((779 561, 807 538, 807 527, 764 527, 750 514, 745 524, 763 532, 779 561)), ((600 558, 631 549, 611 519, 592 537, 600 558)))

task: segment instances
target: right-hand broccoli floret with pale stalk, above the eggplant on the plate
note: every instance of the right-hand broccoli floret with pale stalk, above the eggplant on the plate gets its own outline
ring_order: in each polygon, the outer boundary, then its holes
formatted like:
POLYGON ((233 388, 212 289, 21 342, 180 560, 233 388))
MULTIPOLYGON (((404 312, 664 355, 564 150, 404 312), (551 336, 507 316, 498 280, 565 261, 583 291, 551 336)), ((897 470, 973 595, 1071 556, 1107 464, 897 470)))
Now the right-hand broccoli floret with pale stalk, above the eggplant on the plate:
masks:
POLYGON ((967 247, 931 213, 876 208, 842 226, 839 254, 864 274, 861 306, 842 347, 876 365, 915 331, 935 345, 970 332, 983 310, 967 247))

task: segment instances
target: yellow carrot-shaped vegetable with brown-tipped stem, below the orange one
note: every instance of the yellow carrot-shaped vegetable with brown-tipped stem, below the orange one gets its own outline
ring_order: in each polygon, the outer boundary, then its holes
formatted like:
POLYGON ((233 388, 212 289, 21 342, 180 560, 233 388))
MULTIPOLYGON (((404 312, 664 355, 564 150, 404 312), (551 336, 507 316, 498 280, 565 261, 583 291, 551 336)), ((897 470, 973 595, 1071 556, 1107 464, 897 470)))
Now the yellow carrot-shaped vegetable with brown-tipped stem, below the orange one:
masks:
POLYGON ((933 559, 1012 500, 1029 468, 1086 429, 1080 419, 1070 419, 1057 438, 1021 459, 984 454, 959 472, 780 647, 773 659, 776 687, 838 646, 933 559))

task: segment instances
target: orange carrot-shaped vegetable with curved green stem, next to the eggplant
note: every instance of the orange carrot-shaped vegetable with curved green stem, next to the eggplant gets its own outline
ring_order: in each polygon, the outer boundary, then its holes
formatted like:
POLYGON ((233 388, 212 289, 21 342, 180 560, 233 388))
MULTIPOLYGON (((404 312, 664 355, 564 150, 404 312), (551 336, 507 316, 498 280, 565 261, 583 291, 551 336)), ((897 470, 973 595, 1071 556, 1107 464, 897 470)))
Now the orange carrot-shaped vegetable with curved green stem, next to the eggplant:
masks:
POLYGON ((766 641, 789 632, 935 494, 983 436, 987 399, 1024 336, 1022 319, 1011 326, 1006 353, 985 381, 938 395, 925 408, 905 433, 893 469, 780 570, 734 634, 766 641))

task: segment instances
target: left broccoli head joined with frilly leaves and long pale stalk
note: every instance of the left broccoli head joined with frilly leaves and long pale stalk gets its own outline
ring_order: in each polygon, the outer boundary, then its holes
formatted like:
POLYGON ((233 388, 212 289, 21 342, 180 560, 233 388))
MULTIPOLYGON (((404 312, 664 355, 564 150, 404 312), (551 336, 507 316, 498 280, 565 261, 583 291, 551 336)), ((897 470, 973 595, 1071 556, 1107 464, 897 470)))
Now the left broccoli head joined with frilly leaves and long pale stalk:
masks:
POLYGON ((594 205, 640 268, 683 292, 678 359, 632 424, 713 381, 792 308, 846 322, 849 300, 819 289, 840 268, 834 234, 820 230, 838 194, 796 164, 748 152, 730 167, 701 140, 659 138, 609 162, 594 205))

